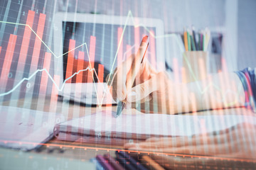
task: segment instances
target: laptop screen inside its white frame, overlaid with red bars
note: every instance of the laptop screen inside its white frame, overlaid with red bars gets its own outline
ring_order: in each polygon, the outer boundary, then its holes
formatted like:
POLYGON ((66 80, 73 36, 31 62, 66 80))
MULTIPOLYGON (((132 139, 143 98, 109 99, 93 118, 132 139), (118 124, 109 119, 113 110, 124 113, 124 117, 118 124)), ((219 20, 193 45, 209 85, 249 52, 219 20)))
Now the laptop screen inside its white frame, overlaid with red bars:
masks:
POLYGON ((112 68, 137 52, 143 35, 150 35, 146 57, 154 63, 155 33, 154 27, 63 21, 63 81, 78 72, 66 83, 105 82, 112 68))

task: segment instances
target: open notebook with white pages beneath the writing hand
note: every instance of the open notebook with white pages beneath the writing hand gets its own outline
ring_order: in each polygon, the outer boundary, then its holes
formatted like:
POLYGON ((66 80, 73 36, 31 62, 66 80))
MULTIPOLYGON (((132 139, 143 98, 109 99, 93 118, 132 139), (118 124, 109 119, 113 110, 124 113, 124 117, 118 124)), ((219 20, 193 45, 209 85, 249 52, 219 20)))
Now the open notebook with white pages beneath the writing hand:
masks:
MULTIPOLYGON (((122 114, 102 111, 55 125, 58 140, 86 137, 145 140, 148 137, 192 136, 231 128, 238 123, 256 123, 252 115, 161 115, 122 114)), ((90 140, 87 138, 87 140, 90 140)))

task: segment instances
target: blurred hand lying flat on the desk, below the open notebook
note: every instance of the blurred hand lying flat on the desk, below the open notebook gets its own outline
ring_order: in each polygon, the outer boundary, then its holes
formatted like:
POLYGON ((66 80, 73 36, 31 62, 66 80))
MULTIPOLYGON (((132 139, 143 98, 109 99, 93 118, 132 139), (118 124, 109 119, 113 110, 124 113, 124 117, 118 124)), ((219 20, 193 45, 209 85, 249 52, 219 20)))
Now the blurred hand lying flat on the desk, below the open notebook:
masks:
POLYGON ((150 152, 255 159, 255 132, 256 125, 242 123, 235 128, 223 130, 218 135, 211 133, 193 137, 154 137, 146 142, 128 143, 124 147, 150 152))

